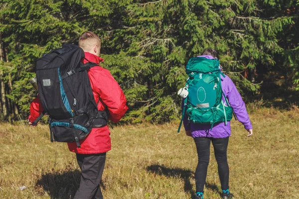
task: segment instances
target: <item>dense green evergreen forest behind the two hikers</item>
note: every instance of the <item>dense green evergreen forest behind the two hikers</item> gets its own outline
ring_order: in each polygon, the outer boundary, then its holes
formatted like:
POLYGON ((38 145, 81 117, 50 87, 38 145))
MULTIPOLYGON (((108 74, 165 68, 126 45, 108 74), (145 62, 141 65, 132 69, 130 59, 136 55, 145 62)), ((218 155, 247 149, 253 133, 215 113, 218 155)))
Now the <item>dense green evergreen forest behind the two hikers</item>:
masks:
POLYGON ((26 119, 35 60, 87 30, 125 92, 125 122, 178 118, 185 65, 208 47, 246 102, 299 101, 299 0, 0 0, 0 120, 26 119))

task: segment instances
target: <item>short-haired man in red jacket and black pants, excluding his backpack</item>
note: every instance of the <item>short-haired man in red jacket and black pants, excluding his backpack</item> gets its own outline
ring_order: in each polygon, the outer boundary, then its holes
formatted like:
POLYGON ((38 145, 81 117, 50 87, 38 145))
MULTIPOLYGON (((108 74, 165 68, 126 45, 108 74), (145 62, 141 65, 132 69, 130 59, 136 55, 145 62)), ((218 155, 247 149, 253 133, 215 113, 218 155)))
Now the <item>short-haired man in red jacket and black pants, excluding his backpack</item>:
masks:
MULTIPOLYGON (((104 60, 99 57, 101 39, 93 32, 84 32, 79 38, 79 46, 84 50, 84 64, 94 62, 99 64, 104 60)), ((93 67, 88 71, 95 101, 99 101, 98 110, 108 109, 109 119, 118 122, 125 115, 128 107, 126 97, 111 73, 102 67, 93 67)), ((29 124, 42 113, 43 108, 37 97, 30 105, 29 124)), ((93 128, 90 134, 80 140, 81 148, 75 142, 67 143, 70 151, 76 153, 81 169, 80 187, 74 199, 103 199, 100 188, 106 152, 111 149, 110 130, 108 125, 93 128)))

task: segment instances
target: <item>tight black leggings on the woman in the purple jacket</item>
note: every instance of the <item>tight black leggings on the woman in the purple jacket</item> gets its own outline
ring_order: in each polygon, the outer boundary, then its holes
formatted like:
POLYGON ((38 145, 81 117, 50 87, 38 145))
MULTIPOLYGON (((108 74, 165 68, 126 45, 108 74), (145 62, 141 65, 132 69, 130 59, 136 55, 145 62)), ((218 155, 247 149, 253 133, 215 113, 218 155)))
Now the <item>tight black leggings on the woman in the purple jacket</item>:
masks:
POLYGON ((203 187, 207 177, 207 170, 210 159, 211 141, 214 146, 215 158, 218 164, 218 174, 221 182, 221 189, 229 189, 229 168, 226 156, 228 139, 229 137, 217 139, 207 137, 194 138, 198 154, 198 164, 195 171, 196 192, 203 192, 203 187))

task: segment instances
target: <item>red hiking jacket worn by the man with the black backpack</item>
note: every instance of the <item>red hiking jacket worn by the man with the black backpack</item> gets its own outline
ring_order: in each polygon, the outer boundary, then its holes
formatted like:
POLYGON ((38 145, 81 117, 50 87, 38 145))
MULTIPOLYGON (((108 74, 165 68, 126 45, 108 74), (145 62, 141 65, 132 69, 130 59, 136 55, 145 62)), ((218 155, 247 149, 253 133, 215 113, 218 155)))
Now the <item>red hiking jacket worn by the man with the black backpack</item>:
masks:
MULTIPOLYGON (((85 58, 82 60, 99 64, 103 59, 85 52, 85 58)), ((88 71, 91 88, 93 91, 98 110, 108 108, 110 113, 109 119, 113 122, 118 122, 125 115, 128 107, 126 105, 126 97, 115 81, 111 73, 102 67, 93 67, 88 71)), ((30 104, 29 121, 33 122, 43 111, 39 98, 35 98, 30 104)), ((104 153, 111 150, 111 138, 108 125, 101 128, 93 128, 90 134, 83 140, 80 140, 81 148, 77 148, 75 142, 67 143, 70 151, 81 154, 104 153)))

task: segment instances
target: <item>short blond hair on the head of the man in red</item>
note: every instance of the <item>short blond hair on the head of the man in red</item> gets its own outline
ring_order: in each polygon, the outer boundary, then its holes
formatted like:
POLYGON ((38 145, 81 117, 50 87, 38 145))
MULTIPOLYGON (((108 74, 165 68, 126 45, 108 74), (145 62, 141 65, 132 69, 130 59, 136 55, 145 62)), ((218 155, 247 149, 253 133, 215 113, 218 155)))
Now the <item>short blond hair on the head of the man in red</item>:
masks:
POLYGON ((101 46, 101 39, 94 32, 86 31, 79 37, 79 46, 84 51, 90 51, 95 44, 101 46))

